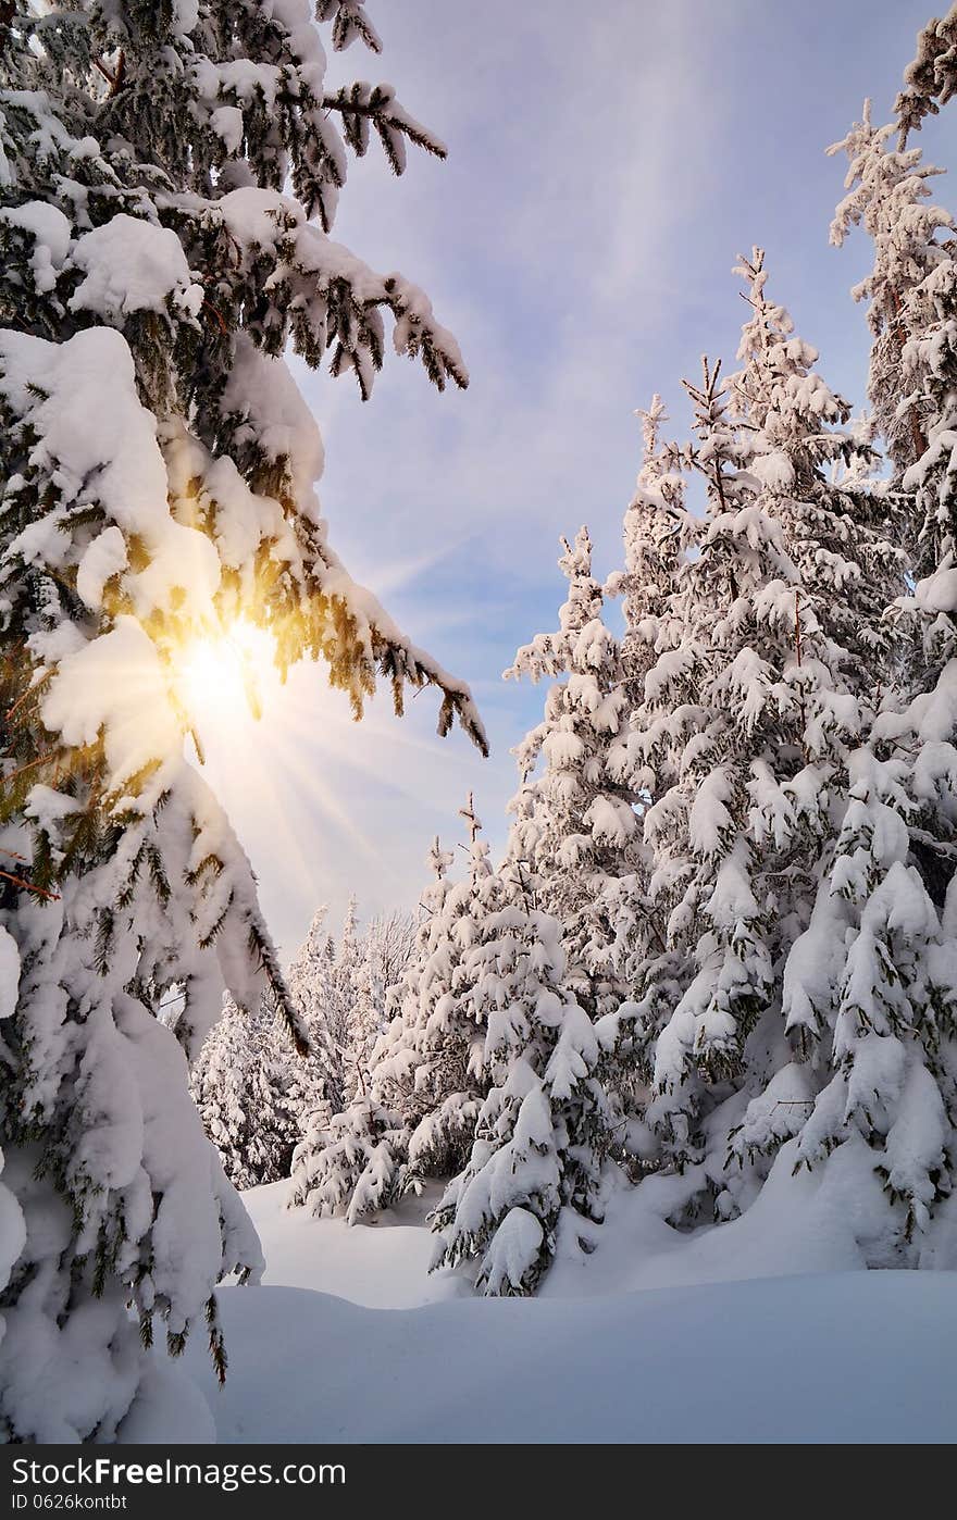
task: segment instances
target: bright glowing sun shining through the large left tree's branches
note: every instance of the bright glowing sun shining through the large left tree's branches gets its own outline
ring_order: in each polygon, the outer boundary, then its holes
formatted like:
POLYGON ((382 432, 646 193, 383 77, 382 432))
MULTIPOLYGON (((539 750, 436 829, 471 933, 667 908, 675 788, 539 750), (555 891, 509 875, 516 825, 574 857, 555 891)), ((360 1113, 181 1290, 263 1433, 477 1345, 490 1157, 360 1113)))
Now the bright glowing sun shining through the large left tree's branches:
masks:
POLYGON ((237 730, 262 717, 263 687, 275 676, 272 635, 245 619, 193 638, 176 660, 176 687, 193 730, 237 730))

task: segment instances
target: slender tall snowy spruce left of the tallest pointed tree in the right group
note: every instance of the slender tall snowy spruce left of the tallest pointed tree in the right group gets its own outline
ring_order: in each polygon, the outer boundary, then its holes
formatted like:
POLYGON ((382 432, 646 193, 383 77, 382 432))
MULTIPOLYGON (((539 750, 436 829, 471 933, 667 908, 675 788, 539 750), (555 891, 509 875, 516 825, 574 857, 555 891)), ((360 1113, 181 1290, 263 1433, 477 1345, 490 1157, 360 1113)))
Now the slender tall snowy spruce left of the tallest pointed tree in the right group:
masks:
MULTIPOLYGON (((618 956, 636 999, 630 1059, 647 1084, 644 1093, 641 1085, 636 1088, 639 1100, 645 1099, 639 1119, 651 1128, 642 1160, 677 1170, 700 1161, 707 1149, 703 1123, 714 1102, 704 1064, 706 1029, 692 1024, 691 1049, 680 1050, 674 1062, 677 1073, 659 1064, 659 1043, 677 1020, 688 1023, 695 983, 700 982, 698 1000, 707 1003, 704 967, 712 971, 715 1000, 723 991, 718 985, 724 959, 721 941, 706 932, 707 920, 703 918, 720 866, 715 859, 718 831, 706 830, 715 813, 707 786, 715 754, 727 746, 718 736, 723 737, 724 727, 733 733, 736 725, 730 722, 726 698, 717 704, 709 701, 712 666, 721 669, 724 651, 707 623, 715 622, 727 641, 735 626, 727 619, 729 610, 735 610, 739 620, 747 606, 742 590, 747 593, 765 576, 770 579, 764 562, 767 546, 752 534, 752 547, 746 523, 741 523, 744 532, 735 532, 752 488, 741 471, 747 458, 742 429, 738 418, 727 415, 721 365, 711 365, 707 359, 701 365, 701 386, 686 382, 695 409, 695 444, 686 447, 685 459, 706 482, 709 511, 698 529, 695 553, 676 567, 662 608, 669 637, 650 652, 642 699, 630 717, 634 775, 645 792, 642 853, 639 868, 622 880, 615 903, 618 956)), ((776 568, 774 561, 771 573, 776 568)), ((718 812, 715 822, 729 848, 735 833, 730 816, 718 812)), ((744 947, 742 939, 741 944, 744 947)), ((744 986, 742 974, 738 990, 744 986)), ((735 990, 732 980, 729 993, 735 990)), ((715 1015, 721 1020, 717 1009, 715 1015)), ((738 1017, 732 1015, 727 1024, 732 1035, 738 1032, 738 1017)), ((721 1076, 717 1062, 711 1076, 715 1081, 721 1076)), ((627 1090, 624 1079, 619 1087, 627 1090)), ((704 1178, 701 1183, 706 1186, 704 1178)))

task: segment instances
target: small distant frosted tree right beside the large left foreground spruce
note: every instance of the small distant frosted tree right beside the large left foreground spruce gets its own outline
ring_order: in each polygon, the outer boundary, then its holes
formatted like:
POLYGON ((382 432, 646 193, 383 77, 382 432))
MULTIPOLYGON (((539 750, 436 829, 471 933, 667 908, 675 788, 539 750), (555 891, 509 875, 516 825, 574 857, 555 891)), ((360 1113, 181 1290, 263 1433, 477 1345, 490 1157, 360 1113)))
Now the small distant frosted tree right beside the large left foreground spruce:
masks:
POLYGON ((268 1009, 227 999, 193 1062, 190 1091, 233 1187, 289 1175, 298 1140, 295 1059, 268 1009))

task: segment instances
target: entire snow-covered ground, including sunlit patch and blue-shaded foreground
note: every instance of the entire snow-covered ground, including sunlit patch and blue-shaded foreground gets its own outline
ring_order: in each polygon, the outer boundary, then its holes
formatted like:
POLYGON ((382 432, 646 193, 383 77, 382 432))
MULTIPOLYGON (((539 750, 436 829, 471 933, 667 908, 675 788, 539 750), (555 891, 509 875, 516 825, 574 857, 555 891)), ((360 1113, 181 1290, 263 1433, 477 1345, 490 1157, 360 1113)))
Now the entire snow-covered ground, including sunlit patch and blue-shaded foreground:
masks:
POLYGON ((644 1192, 536 1300, 429 1277, 414 1208, 348 1228, 286 1211, 286 1184, 246 1193, 269 1266, 221 1290, 224 1391, 189 1351, 219 1439, 957 1439, 957 1274, 857 1269, 820 1198, 749 1272, 761 1221, 691 1242, 644 1192))

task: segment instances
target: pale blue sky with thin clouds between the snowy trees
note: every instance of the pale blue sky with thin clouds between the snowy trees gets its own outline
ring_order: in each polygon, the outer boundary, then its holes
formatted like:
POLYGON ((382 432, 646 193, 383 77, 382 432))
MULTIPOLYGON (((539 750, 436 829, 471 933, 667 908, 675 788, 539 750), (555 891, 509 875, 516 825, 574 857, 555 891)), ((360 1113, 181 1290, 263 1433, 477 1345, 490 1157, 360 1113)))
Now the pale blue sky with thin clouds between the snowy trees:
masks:
MULTIPOLYGON (((863 403, 867 330, 849 289, 869 248, 828 246, 846 161, 825 149, 866 94, 876 119, 890 112, 930 0, 370 0, 370 14, 383 55, 353 47, 335 78, 391 81, 449 161, 414 154, 396 181, 371 149, 333 236, 429 292, 472 385, 438 395, 393 359, 361 404, 347 380, 300 378, 335 547, 472 682, 493 755, 434 739, 428 692, 402 722, 383 699, 351 725, 316 670, 269 693, 239 743, 213 745, 285 956, 321 901, 336 920, 350 891, 364 914, 412 906, 431 836, 463 838, 469 787, 504 844, 508 751, 545 693, 501 672, 554 626, 560 534, 587 523, 598 570, 618 562, 634 407, 660 391, 683 436, 682 375, 704 351, 732 365, 739 251, 767 249, 768 290, 863 403)), ((955 120, 917 140, 931 161, 952 161, 955 120)))

